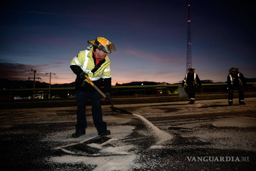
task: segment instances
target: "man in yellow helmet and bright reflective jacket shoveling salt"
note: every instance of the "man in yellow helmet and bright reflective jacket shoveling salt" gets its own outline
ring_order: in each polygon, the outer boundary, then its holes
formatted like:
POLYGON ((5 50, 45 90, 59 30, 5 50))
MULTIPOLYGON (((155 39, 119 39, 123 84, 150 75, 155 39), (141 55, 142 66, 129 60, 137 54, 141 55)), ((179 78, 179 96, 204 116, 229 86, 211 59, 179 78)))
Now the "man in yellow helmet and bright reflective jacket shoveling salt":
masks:
POLYGON ((95 90, 89 83, 85 81, 85 75, 100 88, 100 82, 103 79, 106 101, 110 100, 111 91, 111 70, 110 59, 107 54, 115 51, 115 46, 112 42, 104 37, 97 37, 95 40, 89 40, 88 50, 83 50, 76 55, 70 62, 70 68, 77 75, 75 80, 76 101, 77 101, 77 124, 76 132, 72 137, 76 138, 85 134, 87 126, 85 108, 87 98, 90 98, 92 106, 92 118, 94 125, 97 128, 98 135, 110 135, 110 130, 107 130, 107 123, 102 119, 102 111, 100 105, 100 93, 95 90))

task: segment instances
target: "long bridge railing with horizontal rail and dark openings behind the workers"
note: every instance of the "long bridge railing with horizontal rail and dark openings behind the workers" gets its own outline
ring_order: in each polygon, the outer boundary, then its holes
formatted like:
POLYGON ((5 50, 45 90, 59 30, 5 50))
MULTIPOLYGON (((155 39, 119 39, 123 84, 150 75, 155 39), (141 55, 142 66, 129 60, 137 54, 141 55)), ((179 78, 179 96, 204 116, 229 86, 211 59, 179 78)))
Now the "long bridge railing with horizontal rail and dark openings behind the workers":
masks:
MULTIPOLYGON (((253 84, 247 83, 251 89, 253 84)), ((139 94, 175 94, 177 93, 178 86, 181 84, 171 84, 171 85, 151 85, 151 86, 112 86, 111 94, 114 96, 129 96, 129 95, 139 95, 139 94)), ((104 89, 104 87, 101 87, 104 89)), ((103 90, 104 91, 104 90, 103 90)), ((202 84, 202 88, 199 90, 201 92, 225 92, 227 91, 227 83, 212 83, 212 84, 202 84)), ((36 98, 48 98, 48 94, 51 94, 51 98, 67 98, 74 97, 75 88, 25 88, 25 89, 0 89, 0 99, 14 99, 17 98, 32 98, 35 94, 36 98)))

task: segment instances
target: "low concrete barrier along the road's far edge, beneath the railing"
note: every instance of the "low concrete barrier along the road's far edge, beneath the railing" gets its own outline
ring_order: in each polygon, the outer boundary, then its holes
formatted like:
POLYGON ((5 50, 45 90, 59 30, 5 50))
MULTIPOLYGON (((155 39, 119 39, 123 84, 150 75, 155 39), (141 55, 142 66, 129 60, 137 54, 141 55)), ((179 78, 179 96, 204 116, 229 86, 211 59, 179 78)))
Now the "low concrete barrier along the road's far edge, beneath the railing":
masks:
MULTIPOLYGON (((256 97, 256 92, 245 92, 245 98, 256 97)), ((238 93, 234 94, 234 98, 238 98, 238 93)), ((227 92, 215 93, 196 93, 196 101, 210 99, 228 99, 227 92)), ((120 104, 140 104, 140 103, 163 103, 163 102, 180 102, 188 101, 188 99, 180 100, 178 94, 160 94, 160 95, 141 95, 141 96, 112 96, 111 101, 114 105, 120 104)), ((87 106, 90 106, 90 100, 87 100, 87 106)), ((109 105, 105 99, 101 99, 101 105, 109 105)), ((45 107, 68 107, 76 106, 75 98, 63 99, 24 99, 9 100, 0 102, 0 109, 17 109, 17 108, 45 108, 45 107)))

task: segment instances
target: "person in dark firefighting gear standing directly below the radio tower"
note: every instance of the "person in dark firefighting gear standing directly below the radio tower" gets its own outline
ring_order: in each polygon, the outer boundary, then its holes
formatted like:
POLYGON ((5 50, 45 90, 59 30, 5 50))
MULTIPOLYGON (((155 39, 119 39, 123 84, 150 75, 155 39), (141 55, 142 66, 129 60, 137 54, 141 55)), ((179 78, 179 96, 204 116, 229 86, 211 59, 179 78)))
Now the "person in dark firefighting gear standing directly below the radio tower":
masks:
POLYGON ((186 73, 185 78, 182 82, 182 86, 185 88, 189 96, 189 104, 195 103, 195 93, 197 88, 201 88, 202 84, 198 75, 195 73, 195 68, 190 67, 188 73, 186 73))

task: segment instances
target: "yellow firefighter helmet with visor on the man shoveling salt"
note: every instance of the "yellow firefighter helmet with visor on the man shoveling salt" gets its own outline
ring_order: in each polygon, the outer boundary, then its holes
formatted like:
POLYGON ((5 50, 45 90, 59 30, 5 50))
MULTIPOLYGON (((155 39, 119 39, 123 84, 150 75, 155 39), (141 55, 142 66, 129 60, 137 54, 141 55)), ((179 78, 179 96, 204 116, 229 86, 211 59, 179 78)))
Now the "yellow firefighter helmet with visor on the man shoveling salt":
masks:
POLYGON ((113 43, 107 40, 104 37, 97 37, 95 40, 89 40, 93 46, 96 46, 98 49, 103 50, 106 53, 111 53, 116 51, 116 48, 113 43))

